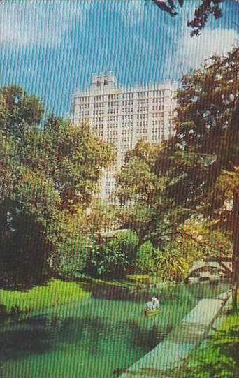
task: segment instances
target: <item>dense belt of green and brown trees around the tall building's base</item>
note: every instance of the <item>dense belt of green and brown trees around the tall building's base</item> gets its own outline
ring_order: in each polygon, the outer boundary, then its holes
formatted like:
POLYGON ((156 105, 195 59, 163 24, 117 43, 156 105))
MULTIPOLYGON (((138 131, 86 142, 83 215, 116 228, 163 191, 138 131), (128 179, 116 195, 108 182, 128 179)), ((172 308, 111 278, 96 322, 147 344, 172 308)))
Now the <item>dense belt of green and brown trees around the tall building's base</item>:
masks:
POLYGON ((117 175, 118 203, 96 201, 114 161, 88 124, 43 119, 20 87, 0 92, 1 285, 48 277, 183 279, 194 259, 233 246, 238 285, 238 48, 182 79, 175 135, 140 141, 117 175), (236 79, 236 80, 235 80, 236 79), (102 231, 115 223, 113 237, 102 231))

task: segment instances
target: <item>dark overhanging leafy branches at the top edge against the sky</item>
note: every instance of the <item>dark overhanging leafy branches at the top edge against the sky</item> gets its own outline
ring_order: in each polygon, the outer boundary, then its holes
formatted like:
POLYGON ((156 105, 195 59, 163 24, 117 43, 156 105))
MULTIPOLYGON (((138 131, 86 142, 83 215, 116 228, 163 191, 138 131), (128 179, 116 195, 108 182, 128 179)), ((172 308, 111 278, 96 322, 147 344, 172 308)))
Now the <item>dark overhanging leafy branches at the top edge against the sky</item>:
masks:
MULTIPOLYGON (((181 7, 184 4, 184 0, 152 0, 152 2, 172 17, 178 15, 177 3, 181 7)), ((200 34, 210 15, 213 15, 216 19, 222 17, 222 9, 219 7, 219 3, 223 2, 224 0, 201 0, 201 5, 195 9, 193 20, 187 22, 187 26, 192 29, 191 36, 200 34)))

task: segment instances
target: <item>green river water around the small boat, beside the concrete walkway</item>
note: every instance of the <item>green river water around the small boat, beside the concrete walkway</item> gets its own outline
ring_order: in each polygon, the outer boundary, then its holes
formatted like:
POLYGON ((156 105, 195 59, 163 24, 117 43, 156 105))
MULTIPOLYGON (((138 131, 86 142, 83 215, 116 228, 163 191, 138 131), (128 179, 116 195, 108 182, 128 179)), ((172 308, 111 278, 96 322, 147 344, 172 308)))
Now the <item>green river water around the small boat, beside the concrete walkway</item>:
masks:
POLYGON ((131 292, 88 287, 90 298, 0 327, 1 378, 113 378, 153 349, 198 303, 227 284, 131 292), (156 295, 161 312, 145 318, 156 295))

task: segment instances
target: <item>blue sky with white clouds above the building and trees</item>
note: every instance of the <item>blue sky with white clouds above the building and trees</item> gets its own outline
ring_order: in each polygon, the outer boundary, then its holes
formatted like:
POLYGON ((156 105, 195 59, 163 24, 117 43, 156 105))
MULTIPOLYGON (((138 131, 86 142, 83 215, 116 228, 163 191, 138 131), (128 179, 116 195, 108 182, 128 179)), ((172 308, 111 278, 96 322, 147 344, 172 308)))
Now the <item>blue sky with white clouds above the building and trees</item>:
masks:
POLYGON ((1 0, 0 86, 21 85, 64 117, 92 73, 111 71, 123 86, 180 80, 238 41, 237 0, 192 38, 187 20, 200 3, 185 0, 171 17, 150 0, 1 0))

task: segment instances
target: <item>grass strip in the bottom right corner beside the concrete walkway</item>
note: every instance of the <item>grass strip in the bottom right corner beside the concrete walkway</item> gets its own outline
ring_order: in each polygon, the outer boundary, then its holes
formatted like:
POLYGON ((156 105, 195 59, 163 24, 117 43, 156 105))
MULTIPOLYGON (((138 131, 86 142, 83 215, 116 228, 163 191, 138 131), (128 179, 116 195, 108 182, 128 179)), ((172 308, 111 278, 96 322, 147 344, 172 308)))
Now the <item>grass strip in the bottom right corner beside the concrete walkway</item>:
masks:
POLYGON ((201 348, 194 351, 179 370, 171 372, 177 378, 236 378, 239 377, 239 314, 231 309, 223 315, 220 326, 201 348))

